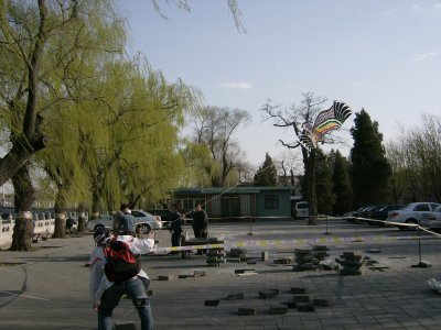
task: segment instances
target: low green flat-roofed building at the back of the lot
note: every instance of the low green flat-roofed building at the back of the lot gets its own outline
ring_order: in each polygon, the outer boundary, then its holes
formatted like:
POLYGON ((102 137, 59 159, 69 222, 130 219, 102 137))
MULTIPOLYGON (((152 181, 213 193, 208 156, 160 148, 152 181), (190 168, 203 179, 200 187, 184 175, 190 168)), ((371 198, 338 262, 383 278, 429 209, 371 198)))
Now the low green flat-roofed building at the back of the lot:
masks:
POLYGON ((189 212, 201 204, 212 219, 291 218, 291 186, 182 188, 172 191, 173 202, 189 212))

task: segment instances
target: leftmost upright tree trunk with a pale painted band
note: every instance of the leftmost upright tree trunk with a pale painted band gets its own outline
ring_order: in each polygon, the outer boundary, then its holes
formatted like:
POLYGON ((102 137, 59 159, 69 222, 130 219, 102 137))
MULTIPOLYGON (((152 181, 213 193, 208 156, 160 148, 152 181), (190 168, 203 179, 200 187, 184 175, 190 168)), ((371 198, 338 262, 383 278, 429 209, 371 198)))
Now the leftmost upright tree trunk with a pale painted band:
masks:
POLYGON ((28 165, 24 164, 12 176, 14 187, 14 208, 18 215, 12 234, 11 251, 30 251, 32 242, 32 204, 34 188, 32 187, 28 165))

